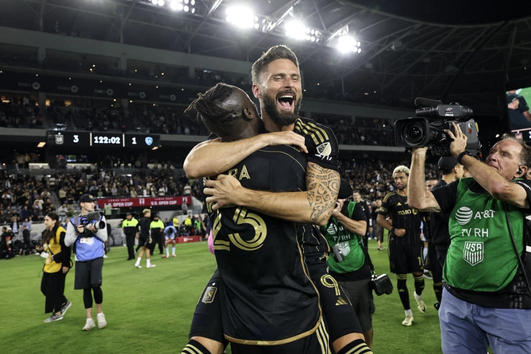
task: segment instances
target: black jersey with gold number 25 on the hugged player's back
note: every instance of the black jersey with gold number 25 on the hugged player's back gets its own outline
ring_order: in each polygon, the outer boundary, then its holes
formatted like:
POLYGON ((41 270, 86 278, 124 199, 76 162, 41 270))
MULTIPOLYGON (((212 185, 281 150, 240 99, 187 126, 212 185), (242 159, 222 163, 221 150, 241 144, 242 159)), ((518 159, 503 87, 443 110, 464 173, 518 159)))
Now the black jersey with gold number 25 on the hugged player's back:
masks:
MULTIPOLYGON (((226 173, 249 189, 299 191, 305 189, 306 159, 293 147, 268 146, 226 173)), ((271 345, 313 333, 320 323, 319 297, 295 223, 242 207, 207 209, 223 283, 225 337, 271 345)))

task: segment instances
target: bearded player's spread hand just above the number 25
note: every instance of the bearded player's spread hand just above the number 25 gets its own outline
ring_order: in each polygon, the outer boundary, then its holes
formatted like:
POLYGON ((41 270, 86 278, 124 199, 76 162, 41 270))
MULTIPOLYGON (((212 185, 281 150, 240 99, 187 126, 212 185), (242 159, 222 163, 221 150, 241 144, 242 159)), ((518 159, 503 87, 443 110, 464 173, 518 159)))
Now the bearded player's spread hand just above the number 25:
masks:
POLYGON ((205 201, 212 203, 212 210, 238 205, 239 193, 244 190, 237 179, 227 174, 220 174, 216 180, 208 180, 204 185, 203 192, 210 196, 205 201))

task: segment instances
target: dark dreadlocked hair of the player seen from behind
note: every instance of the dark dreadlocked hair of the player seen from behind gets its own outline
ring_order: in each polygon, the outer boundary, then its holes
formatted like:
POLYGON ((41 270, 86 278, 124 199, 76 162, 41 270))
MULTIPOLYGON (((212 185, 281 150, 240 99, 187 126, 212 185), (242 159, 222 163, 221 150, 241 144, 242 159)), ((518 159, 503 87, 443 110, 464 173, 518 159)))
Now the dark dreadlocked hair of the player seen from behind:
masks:
POLYGON ((210 87, 205 93, 198 93, 196 98, 184 112, 195 109, 197 118, 205 125, 215 124, 222 126, 224 123, 238 117, 238 113, 221 108, 219 105, 233 93, 234 86, 224 83, 217 83, 210 87))

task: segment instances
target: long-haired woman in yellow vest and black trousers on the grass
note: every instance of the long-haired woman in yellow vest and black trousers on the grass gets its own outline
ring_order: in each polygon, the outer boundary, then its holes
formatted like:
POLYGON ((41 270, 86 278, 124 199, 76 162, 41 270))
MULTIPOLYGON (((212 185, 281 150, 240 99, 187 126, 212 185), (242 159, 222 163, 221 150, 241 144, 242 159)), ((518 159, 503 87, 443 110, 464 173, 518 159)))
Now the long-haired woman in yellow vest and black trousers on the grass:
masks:
POLYGON ((46 229, 42 232, 41 257, 46 258, 42 268, 40 291, 46 297, 44 313, 53 312, 45 323, 63 319, 72 303, 64 296, 66 273, 72 267, 70 247, 64 243, 66 230, 61 226, 59 216, 48 213, 44 218, 46 229))

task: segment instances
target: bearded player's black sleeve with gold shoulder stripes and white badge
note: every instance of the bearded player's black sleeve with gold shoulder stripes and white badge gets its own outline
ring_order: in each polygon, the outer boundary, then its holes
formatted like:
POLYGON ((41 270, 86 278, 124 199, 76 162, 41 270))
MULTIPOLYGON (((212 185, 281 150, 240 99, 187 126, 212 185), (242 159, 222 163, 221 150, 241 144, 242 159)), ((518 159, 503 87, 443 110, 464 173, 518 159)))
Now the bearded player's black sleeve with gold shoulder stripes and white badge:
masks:
POLYGON ((298 118, 294 131, 304 137, 308 162, 339 172, 339 146, 332 129, 311 119, 298 118))

